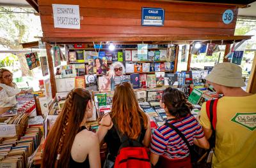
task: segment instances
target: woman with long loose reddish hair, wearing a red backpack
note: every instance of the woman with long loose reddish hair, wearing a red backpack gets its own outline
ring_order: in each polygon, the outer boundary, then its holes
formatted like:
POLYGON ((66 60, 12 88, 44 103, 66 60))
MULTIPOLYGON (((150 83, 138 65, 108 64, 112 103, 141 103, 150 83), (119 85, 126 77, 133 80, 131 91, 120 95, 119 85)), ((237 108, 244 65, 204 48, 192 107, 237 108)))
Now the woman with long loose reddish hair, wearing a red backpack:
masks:
MULTIPOLYGON (((96 133, 100 142, 104 139, 107 143, 108 161, 112 163, 115 162, 121 145, 114 124, 120 134, 133 140, 140 136, 139 142, 148 147, 151 136, 150 120, 140 109, 134 90, 128 82, 116 85, 111 112, 103 116, 96 133)), ((107 167, 113 167, 113 164, 107 167)))

